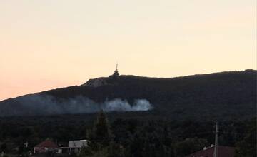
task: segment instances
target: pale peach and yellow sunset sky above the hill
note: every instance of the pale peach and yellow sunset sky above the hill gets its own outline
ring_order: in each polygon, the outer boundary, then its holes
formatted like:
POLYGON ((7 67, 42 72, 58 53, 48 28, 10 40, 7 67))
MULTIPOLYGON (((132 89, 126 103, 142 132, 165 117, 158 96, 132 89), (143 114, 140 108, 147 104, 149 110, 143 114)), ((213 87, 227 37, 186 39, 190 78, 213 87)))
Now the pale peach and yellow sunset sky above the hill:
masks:
POLYGON ((255 0, 0 0, 0 100, 120 74, 256 69, 255 0))

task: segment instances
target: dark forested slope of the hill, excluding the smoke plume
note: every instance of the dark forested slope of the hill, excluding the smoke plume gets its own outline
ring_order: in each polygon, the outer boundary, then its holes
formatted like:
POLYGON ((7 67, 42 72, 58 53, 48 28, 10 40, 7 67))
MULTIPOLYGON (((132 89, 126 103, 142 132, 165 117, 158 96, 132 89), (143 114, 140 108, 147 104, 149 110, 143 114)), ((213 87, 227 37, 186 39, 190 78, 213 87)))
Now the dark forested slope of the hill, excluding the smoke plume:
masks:
MULTIPOLYGON (((256 74, 255 70, 246 70, 176 78, 118 76, 101 78, 104 82, 97 87, 71 86, 37 95, 51 96, 61 102, 78 96, 96 103, 119 98, 133 104, 136 99, 144 99, 153 105, 149 113, 177 119, 249 118, 256 114, 256 74)), ((33 116, 33 111, 28 108, 22 114, 23 105, 19 106, 22 97, 18 99, 1 101, 1 116, 33 116), (19 108, 19 111, 12 107, 19 108)))

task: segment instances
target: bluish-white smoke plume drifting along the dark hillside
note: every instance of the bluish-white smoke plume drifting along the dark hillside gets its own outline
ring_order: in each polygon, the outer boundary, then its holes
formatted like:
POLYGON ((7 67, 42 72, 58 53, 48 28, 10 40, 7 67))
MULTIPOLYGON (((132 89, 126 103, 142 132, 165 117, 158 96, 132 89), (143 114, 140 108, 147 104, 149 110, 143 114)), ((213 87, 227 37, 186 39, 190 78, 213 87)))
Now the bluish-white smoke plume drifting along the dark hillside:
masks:
POLYGON ((146 99, 136 99, 132 104, 116 98, 103 103, 84 96, 75 98, 56 98, 49 95, 28 95, 0 102, 0 116, 35 116, 76 113, 96 113, 101 109, 110 111, 148 111, 153 106, 146 99))

